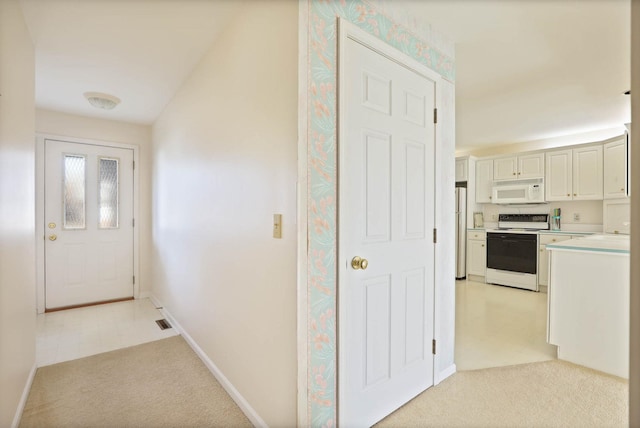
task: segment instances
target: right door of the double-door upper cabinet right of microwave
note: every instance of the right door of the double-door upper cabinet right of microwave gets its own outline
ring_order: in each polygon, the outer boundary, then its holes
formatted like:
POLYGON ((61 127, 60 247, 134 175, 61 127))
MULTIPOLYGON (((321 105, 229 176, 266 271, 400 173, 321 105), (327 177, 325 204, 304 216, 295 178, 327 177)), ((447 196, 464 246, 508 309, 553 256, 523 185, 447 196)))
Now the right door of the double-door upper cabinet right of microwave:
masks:
POLYGON ((573 149, 573 200, 602 199, 602 145, 573 149))

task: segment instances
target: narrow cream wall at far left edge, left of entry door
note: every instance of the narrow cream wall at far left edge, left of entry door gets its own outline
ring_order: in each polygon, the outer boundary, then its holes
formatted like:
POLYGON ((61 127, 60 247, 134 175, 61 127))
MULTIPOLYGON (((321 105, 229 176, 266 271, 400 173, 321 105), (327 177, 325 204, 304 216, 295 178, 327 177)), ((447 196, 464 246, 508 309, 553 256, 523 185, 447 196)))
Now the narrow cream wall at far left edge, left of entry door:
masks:
POLYGON ((35 59, 17 0, 0 1, 0 426, 35 370, 35 59))

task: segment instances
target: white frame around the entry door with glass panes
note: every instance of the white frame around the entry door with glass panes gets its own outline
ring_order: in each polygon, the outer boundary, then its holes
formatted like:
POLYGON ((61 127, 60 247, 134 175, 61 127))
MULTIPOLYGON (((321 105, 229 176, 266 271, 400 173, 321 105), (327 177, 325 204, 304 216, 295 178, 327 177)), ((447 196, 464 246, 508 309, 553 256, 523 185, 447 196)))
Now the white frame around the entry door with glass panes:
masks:
POLYGON ((118 149, 133 150, 133 161, 136 168, 133 170, 133 218, 136 219, 136 226, 133 228, 133 274, 136 277, 133 284, 133 297, 140 298, 140 216, 139 216, 139 190, 140 190, 140 162, 139 147, 133 144, 113 143, 110 141, 93 140, 90 138, 75 138, 53 134, 36 134, 36 308, 39 314, 45 311, 45 140, 57 140, 76 144, 87 144, 92 146, 114 147, 118 149))

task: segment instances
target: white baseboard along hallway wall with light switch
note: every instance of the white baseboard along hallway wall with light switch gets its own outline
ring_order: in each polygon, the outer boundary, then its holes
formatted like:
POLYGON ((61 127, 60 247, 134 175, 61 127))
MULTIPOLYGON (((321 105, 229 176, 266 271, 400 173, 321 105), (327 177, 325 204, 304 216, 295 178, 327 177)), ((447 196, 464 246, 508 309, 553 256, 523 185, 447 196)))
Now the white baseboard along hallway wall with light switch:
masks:
POLYGON ((268 425, 264 420, 258 415, 258 413, 251 407, 249 402, 245 400, 245 398, 240 395, 240 392, 233 386, 233 384, 226 378, 226 376, 220 371, 220 369, 211 361, 211 359, 205 354, 205 352, 198 346, 195 340, 187 333, 184 328, 176 321, 176 319, 162 307, 162 304, 158 301, 158 299, 151 295, 149 296, 151 302, 156 306, 156 308, 160 308, 160 312, 168 319, 169 323, 178 330, 178 332, 182 335, 182 338, 191 346, 193 352, 200 357, 205 366, 209 369, 209 371, 213 374, 213 376, 220 382, 220 385, 227 391, 227 394, 235 401, 235 403, 240 407, 240 410, 249 418, 253 426, 256 427, 267 427, 268 425))

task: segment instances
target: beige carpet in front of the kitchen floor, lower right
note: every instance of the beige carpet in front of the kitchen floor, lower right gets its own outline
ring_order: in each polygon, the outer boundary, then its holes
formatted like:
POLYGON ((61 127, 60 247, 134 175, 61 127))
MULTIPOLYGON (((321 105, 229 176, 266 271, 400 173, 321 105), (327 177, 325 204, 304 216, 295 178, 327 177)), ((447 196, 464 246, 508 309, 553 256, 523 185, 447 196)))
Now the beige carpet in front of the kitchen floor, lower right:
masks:
POLYGON ((554 360, 458 372, 377 427, 626 427, 623 379, 554 360))

